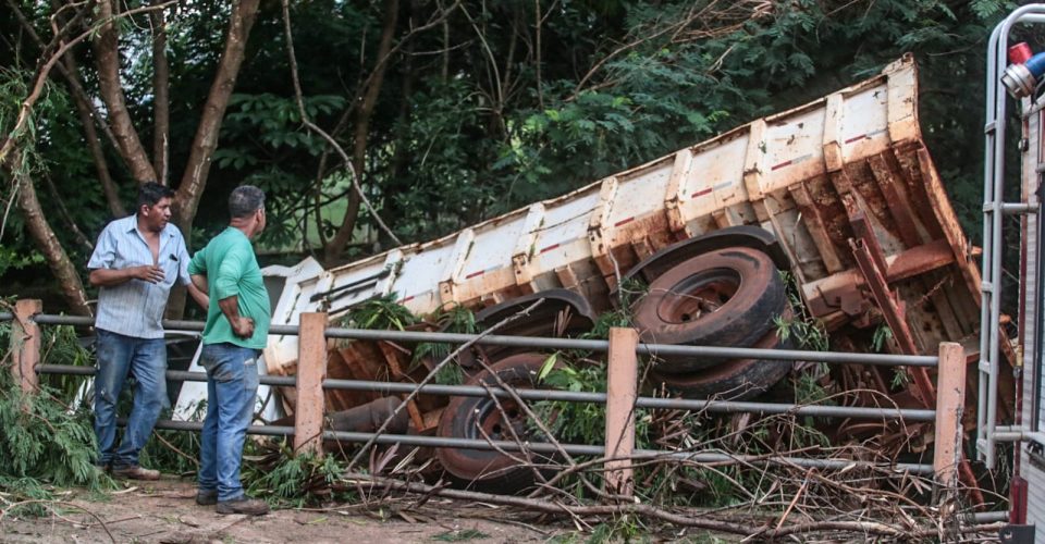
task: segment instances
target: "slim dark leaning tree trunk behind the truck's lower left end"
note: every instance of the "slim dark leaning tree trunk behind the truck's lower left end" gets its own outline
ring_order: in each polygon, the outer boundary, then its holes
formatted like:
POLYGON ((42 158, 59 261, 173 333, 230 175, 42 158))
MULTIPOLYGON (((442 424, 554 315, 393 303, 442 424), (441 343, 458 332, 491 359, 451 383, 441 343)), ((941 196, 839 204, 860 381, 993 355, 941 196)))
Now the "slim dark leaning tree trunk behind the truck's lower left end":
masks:
MULTIPOLYGON (((370 85, 364 89, 364 95, 360 97, 359 110, 356 116, 356 127, 355 127, 355 137, 354 137, 354 147, 353 147, 353 159, 352 163, 356 169, 356 175, 359 176, 359 186, 364 186, 364 172, 366 171, 366 158, 367 158, 367 135, 370 133, 370 120, 373 116, 374 107, 378 103, 378 96, 381 94, 381 86, 384 83, 384 71, 389 65, 388 62, 382 62, 382 60, 388 57, 389 51, 392 50, 392 39, 395 36, 395 25, 398 21, 399 14, 399 1, 398 0, 385 0, 384 4, 384 25, 381 29, 381 45, 378 48, 377 54, 377 67, 372 75, 370 85)), ((352 233, 356 227, 356 219, 359 217, 359 205, 360 205, 359 195, 356 191, 353 191, 348 198, 348 207, 345 210, 345 217, 341 222, 341 227, 337 228, 337 234, 327 244, 327 247, 323 248, 323 260, 327 263, 336 262, 341 257, 342 251, 345 250, 345 246, 348 245, 348 242, 352 239, 352 233)))

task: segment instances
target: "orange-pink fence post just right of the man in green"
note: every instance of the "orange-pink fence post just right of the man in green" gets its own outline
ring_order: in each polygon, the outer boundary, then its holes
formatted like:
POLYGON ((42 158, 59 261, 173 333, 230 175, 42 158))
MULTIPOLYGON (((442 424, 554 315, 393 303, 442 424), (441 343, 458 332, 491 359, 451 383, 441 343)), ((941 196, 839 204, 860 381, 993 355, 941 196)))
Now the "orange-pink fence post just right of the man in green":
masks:
POLYGON ((297 337, 297 403, 294 450, 323 453, 323 380, 327 379, 327 313, 300 314, 297 337))

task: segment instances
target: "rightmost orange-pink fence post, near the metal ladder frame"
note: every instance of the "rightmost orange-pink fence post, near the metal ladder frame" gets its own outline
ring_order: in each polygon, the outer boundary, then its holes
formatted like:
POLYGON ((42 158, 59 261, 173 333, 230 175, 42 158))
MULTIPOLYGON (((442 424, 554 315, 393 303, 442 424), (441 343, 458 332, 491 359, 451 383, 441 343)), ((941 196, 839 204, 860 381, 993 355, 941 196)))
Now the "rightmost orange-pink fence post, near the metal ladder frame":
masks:
POLYGON ((966 353, 960 344, 939 344, 939 367, 936 369, 936 447, 933 470, 936 480, 947 489, 958 484, 958 466, 962 458, 961 413, 966 406, 966 353))

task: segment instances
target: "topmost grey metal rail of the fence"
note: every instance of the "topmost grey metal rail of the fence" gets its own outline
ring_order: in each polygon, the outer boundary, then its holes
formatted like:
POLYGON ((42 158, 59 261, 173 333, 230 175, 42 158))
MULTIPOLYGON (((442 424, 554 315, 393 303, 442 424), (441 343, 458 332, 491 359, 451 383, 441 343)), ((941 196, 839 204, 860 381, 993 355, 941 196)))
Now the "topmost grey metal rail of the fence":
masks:
MULTIPOLYGON (((34 321, 39 324, 61 324, 61 325, 89 325, 94 322, 93 318, 78 316, 49 316, 38 314, 34 321)), ((179 331, 202 331, 204 323, 199 321, 164 321, 163 325, 168 330, 179 331)), ((296 335, 298 327, 295 325, 272 325, 269 330, 271 335, 296 335)), ((491 344, 497 346, 527 347, 527 348, 550 348, 550 349, 586 349, 591 351, 606 351, 610 349, 608 341, 598 339, 576 339, 576 338, 544 338, 537 336, 501 336, 488 335, 479 337, 476 334, 457 333, 423 333, 410 331, 371 331, 365 329, 327 329, 329 338, 353 338, 371 341, 392 341, 392 342, 437 342, 450 344, 463 344, 476 341, 478 344, 491 344), (478 339, 477 339, 478 338, 478 339)), ((668 344, 639 344, 636 353, 640 355, 653 356, 703 356, 721 357, 723 359, 765 359, 765 360, 785 360, 785 361, 819 361, 834 363, 858 363, 875 366, 908 366, 908 367, 936 367, 939 358, 936 356, 921 355, 892 355, 892 354, 850 354, 841 351, 803 351, 797 349, 753 349, 739 347, 716 347, 716 346, 677 346, 668 344)))

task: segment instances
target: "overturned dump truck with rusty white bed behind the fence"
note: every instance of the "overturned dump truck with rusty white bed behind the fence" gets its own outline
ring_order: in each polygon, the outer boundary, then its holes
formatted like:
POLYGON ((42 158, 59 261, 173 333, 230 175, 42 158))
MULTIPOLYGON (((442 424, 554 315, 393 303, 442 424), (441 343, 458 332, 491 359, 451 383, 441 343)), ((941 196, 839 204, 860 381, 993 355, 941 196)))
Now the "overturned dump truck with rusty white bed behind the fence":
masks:
MULTIPOLYGON (((834 350, 935 354, 941 342, 957 342, 975 361, 974 255, 922 140, 908 57, 807 106, 443 238, 331 270, 307 259, 266 273, 273 324, 295 325, 310 311, 337 317, 392 294, 416 314, 460 305, 490 324, 543 297, 544 310, 499 334, 577 334, 622 304, 618 290, 634 280, 646 295, 628 302, 629 311, 649 343, 775 348, 790 341, 774 322, 810 319, 834 350), (569 323, 553 326, 566 308, 569 323)), ((297 342, 270 338, 268 373, 295 372, 297 342)), ((487 374, 469 367, 475 357, 516 373, 543 360, 509 349, 469 353, 459 362, 472 383, 487 374)), ((357 342, 331 347, 328 374, 415 381, 408 362, 401 346, 357 342)), ((648 385, 690 398, 749 398, 791 367, 669 359, 653 367, 648 385)), ((934 403, 935 381, 924 368, 849 364, 832 381, 869 404, 883 394, 901 407, 934 403)), ((327 395, 329 410, 373 400, 327 395)), ((293 399, 283 400, 293 410, 293 399)), ((414 405, 409 425, 467 432, 452 412, 467 411, 468 403, 475 399, 414 405)), ((866 431, 861 425, 851 432, 866 431)), ((918 425, 903 430, 905 447, 932 437, 918 425)), ((457 454, 441 457, 453 465, 457 454)))

